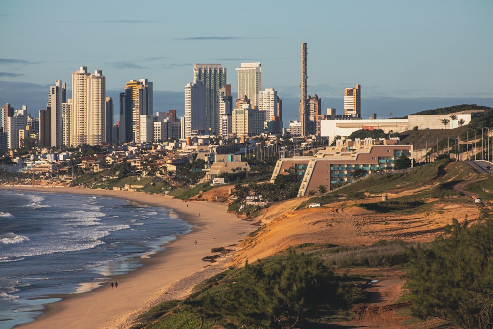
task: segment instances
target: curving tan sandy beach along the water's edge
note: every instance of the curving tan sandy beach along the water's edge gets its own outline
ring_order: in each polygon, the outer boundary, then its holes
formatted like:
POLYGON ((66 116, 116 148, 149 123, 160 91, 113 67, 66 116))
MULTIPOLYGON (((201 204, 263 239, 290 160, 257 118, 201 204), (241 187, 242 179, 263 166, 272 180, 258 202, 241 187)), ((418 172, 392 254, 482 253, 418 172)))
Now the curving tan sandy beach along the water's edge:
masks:
POLYGON ((231 255, 215 263, 202 260, 216 255, 212 248, 237 244, 255 229, 252 222, 227 212, 227 205, 215 202, 184 202, 163 195, 129 191, 91 190, 82 188, 5 187, 41 192, 89 194, 123 198, 139 204, 160 206, 180 214, 193 225, 192 232, 178 236, 165 250, 142 259, 144 266, 130 273, 107 278, 90 292, 63 295, 60 302, 49 304, 34 322, 15 328, 127 329, 133 319, 165 300, 183 298, 201 281, 224 270, 231 255), (111 289, 110 282, 118 288, 111 289))

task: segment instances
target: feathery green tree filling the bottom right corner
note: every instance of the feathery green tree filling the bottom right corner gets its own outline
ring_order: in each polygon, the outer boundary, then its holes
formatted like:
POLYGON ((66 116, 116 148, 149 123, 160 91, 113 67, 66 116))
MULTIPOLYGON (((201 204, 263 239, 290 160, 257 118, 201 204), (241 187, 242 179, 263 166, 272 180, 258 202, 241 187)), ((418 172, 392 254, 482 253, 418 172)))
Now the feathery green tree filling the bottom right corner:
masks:
POLYGON ((413 313, 462 328, 492 328, 493 221, 468 226, 457 219, 431 246, 412 250, 407 288, 413 313))

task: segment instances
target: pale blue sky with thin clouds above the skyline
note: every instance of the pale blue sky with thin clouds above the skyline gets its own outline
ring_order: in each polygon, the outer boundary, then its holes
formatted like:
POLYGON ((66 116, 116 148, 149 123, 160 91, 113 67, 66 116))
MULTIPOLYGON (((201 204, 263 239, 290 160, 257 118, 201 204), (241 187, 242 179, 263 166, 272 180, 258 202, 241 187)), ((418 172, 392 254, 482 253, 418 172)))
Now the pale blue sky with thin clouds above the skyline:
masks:
MULTIPOLYGON (((103 70, 115 99, 131 79, 153 82, 154 112, 184 113, 194 63, 260 62, 262 89, 297 119, 300 45, 308 93, 343 113, 361 85, 362 113, 379 118, 475 103, 493 107, 492 0, 0 1, 0 104, 38 116, 55 80, 103 70), (366 105, 365 105, 366 104, 366 105)), ((68 97, 70 97, 70 93, 68 97)))

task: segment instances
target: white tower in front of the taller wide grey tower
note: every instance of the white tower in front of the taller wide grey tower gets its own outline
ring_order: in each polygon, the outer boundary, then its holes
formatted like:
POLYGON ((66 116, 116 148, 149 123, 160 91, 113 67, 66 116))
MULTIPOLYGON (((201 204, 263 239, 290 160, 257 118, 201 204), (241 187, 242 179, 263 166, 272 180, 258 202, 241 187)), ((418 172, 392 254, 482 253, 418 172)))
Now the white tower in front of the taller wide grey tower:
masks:
POLYGON ((202 81, 185 86, 185 137, 209 132, 206 118, 207 88, 202 81))

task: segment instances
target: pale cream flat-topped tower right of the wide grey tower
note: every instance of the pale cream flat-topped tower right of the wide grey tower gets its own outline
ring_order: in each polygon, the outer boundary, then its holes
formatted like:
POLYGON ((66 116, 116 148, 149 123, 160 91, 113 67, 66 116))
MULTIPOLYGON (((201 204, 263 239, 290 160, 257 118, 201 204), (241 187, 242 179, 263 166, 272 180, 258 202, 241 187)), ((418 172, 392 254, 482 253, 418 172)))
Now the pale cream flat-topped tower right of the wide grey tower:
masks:
POLYGON ((258 93, 262 90, 262 66, 260 63, 241 63, 238 71, 238 97, 248 97, 251 105, 258 107, 258 93))

